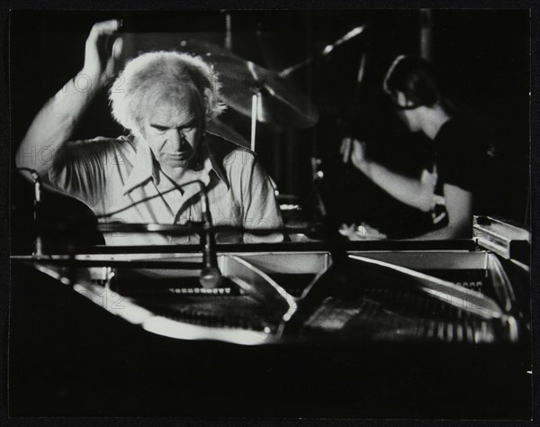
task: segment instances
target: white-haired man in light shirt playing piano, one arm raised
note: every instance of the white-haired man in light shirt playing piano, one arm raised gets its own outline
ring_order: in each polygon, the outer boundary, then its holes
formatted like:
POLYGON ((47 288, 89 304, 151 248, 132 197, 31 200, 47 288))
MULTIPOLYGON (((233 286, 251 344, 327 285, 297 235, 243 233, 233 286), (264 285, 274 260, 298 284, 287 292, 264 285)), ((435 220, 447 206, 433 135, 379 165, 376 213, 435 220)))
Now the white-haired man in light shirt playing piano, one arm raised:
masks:
MULTIPOLYGON (((201 222, 201 180, 213 223, 282 228, 274 188, 250 150, 205 132, 225 108, 218 77, 202 59, 150 52, 130 60, 112 84, 112 116, 130 131, 119 138, 68 142, 76 123, 114 75, 122 41, 119 21, 94 24, 85 64, 34 118, 17 152, 17 166, 89 204, 102 221, 182 224, 201 222), (110 44, 109 44, 110 45, 110 44), (47 150, 48 156, 38 156, 47 150)), ((218 235, 218 241, 283 241, 283 233, 218 235)), ((105 235, 107 244, 196 243, 197 236, 105 235)))

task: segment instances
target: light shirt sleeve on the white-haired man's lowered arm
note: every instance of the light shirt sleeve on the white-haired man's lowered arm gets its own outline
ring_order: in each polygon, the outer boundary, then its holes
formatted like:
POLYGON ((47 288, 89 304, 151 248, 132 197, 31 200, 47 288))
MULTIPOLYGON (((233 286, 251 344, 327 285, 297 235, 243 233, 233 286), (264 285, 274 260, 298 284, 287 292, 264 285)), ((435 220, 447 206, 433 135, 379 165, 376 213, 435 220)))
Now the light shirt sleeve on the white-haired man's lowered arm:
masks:
MULTIPOLYGON (((281 211, 275 199, 274 186, 266 175, 265 170, 253 158, 248 166, 248 175, 243 177, 243 222, 246 228, 271 229, 284 228, 281 211)), ((245 242, 276 242, 284 241, 284 233, 256 236, 246 234, 245 242)))

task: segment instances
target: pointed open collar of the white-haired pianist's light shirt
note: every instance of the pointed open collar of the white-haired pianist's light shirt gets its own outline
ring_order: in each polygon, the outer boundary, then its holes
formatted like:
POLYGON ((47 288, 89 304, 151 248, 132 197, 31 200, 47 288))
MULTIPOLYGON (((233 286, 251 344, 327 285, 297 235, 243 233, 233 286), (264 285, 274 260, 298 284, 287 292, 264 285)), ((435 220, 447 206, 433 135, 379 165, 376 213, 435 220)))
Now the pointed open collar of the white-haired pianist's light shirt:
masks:
MULTIPOLYGON (((123 195, 127 195, 136 187, 145 184, 149 179, 154 179, 154 182, 156 183, 159 182, 159 174, 157 166, 155 165, 154 155, 150 150, 148 142, 142 138, 137 138, 135 146, 137 148, 137 154, 130 176, 122 188, 123 195)), ((210 174, 211 171, 213 171, 229 188, 229 179, 227 179, 222 165, 223 159, 219 159, 219 156, 216 156, 214 150, 211 149, 211 146, 212 144, 209 144, 206 138, 202 141, 204 163, 202 165, 203 173, 201 180, 204 185, 208 186, 210 183, 210 174)))

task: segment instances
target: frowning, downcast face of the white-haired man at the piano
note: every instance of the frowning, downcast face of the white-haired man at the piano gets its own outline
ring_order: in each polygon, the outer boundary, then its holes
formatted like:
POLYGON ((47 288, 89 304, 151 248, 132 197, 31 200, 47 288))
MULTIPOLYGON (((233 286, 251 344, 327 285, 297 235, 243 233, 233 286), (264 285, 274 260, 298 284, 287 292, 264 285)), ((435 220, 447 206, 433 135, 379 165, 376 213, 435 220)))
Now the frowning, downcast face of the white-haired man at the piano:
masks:
POLYGON ((202 105, 196 95, 189 94, 177 102, 157 103, 144 119, 142 128, 161 168, 173 173, 190 167, 203 132, 202 105))

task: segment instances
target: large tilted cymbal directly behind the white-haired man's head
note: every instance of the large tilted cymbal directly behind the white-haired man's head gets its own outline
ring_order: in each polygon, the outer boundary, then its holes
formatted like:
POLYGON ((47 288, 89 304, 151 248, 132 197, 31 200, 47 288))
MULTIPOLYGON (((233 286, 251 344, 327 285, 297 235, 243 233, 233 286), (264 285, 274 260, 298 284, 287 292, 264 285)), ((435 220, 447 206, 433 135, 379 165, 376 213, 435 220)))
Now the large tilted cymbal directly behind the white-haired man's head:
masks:
POLYGON ((319 112, 311 100, 277 72, 205 41, 184 40, 180 46, 184 52, 211 63, 219 74, 225 101, 239 113, 251 117, 252 97, 257 94, 259 122, 307 128, 319 120, 319 112))

